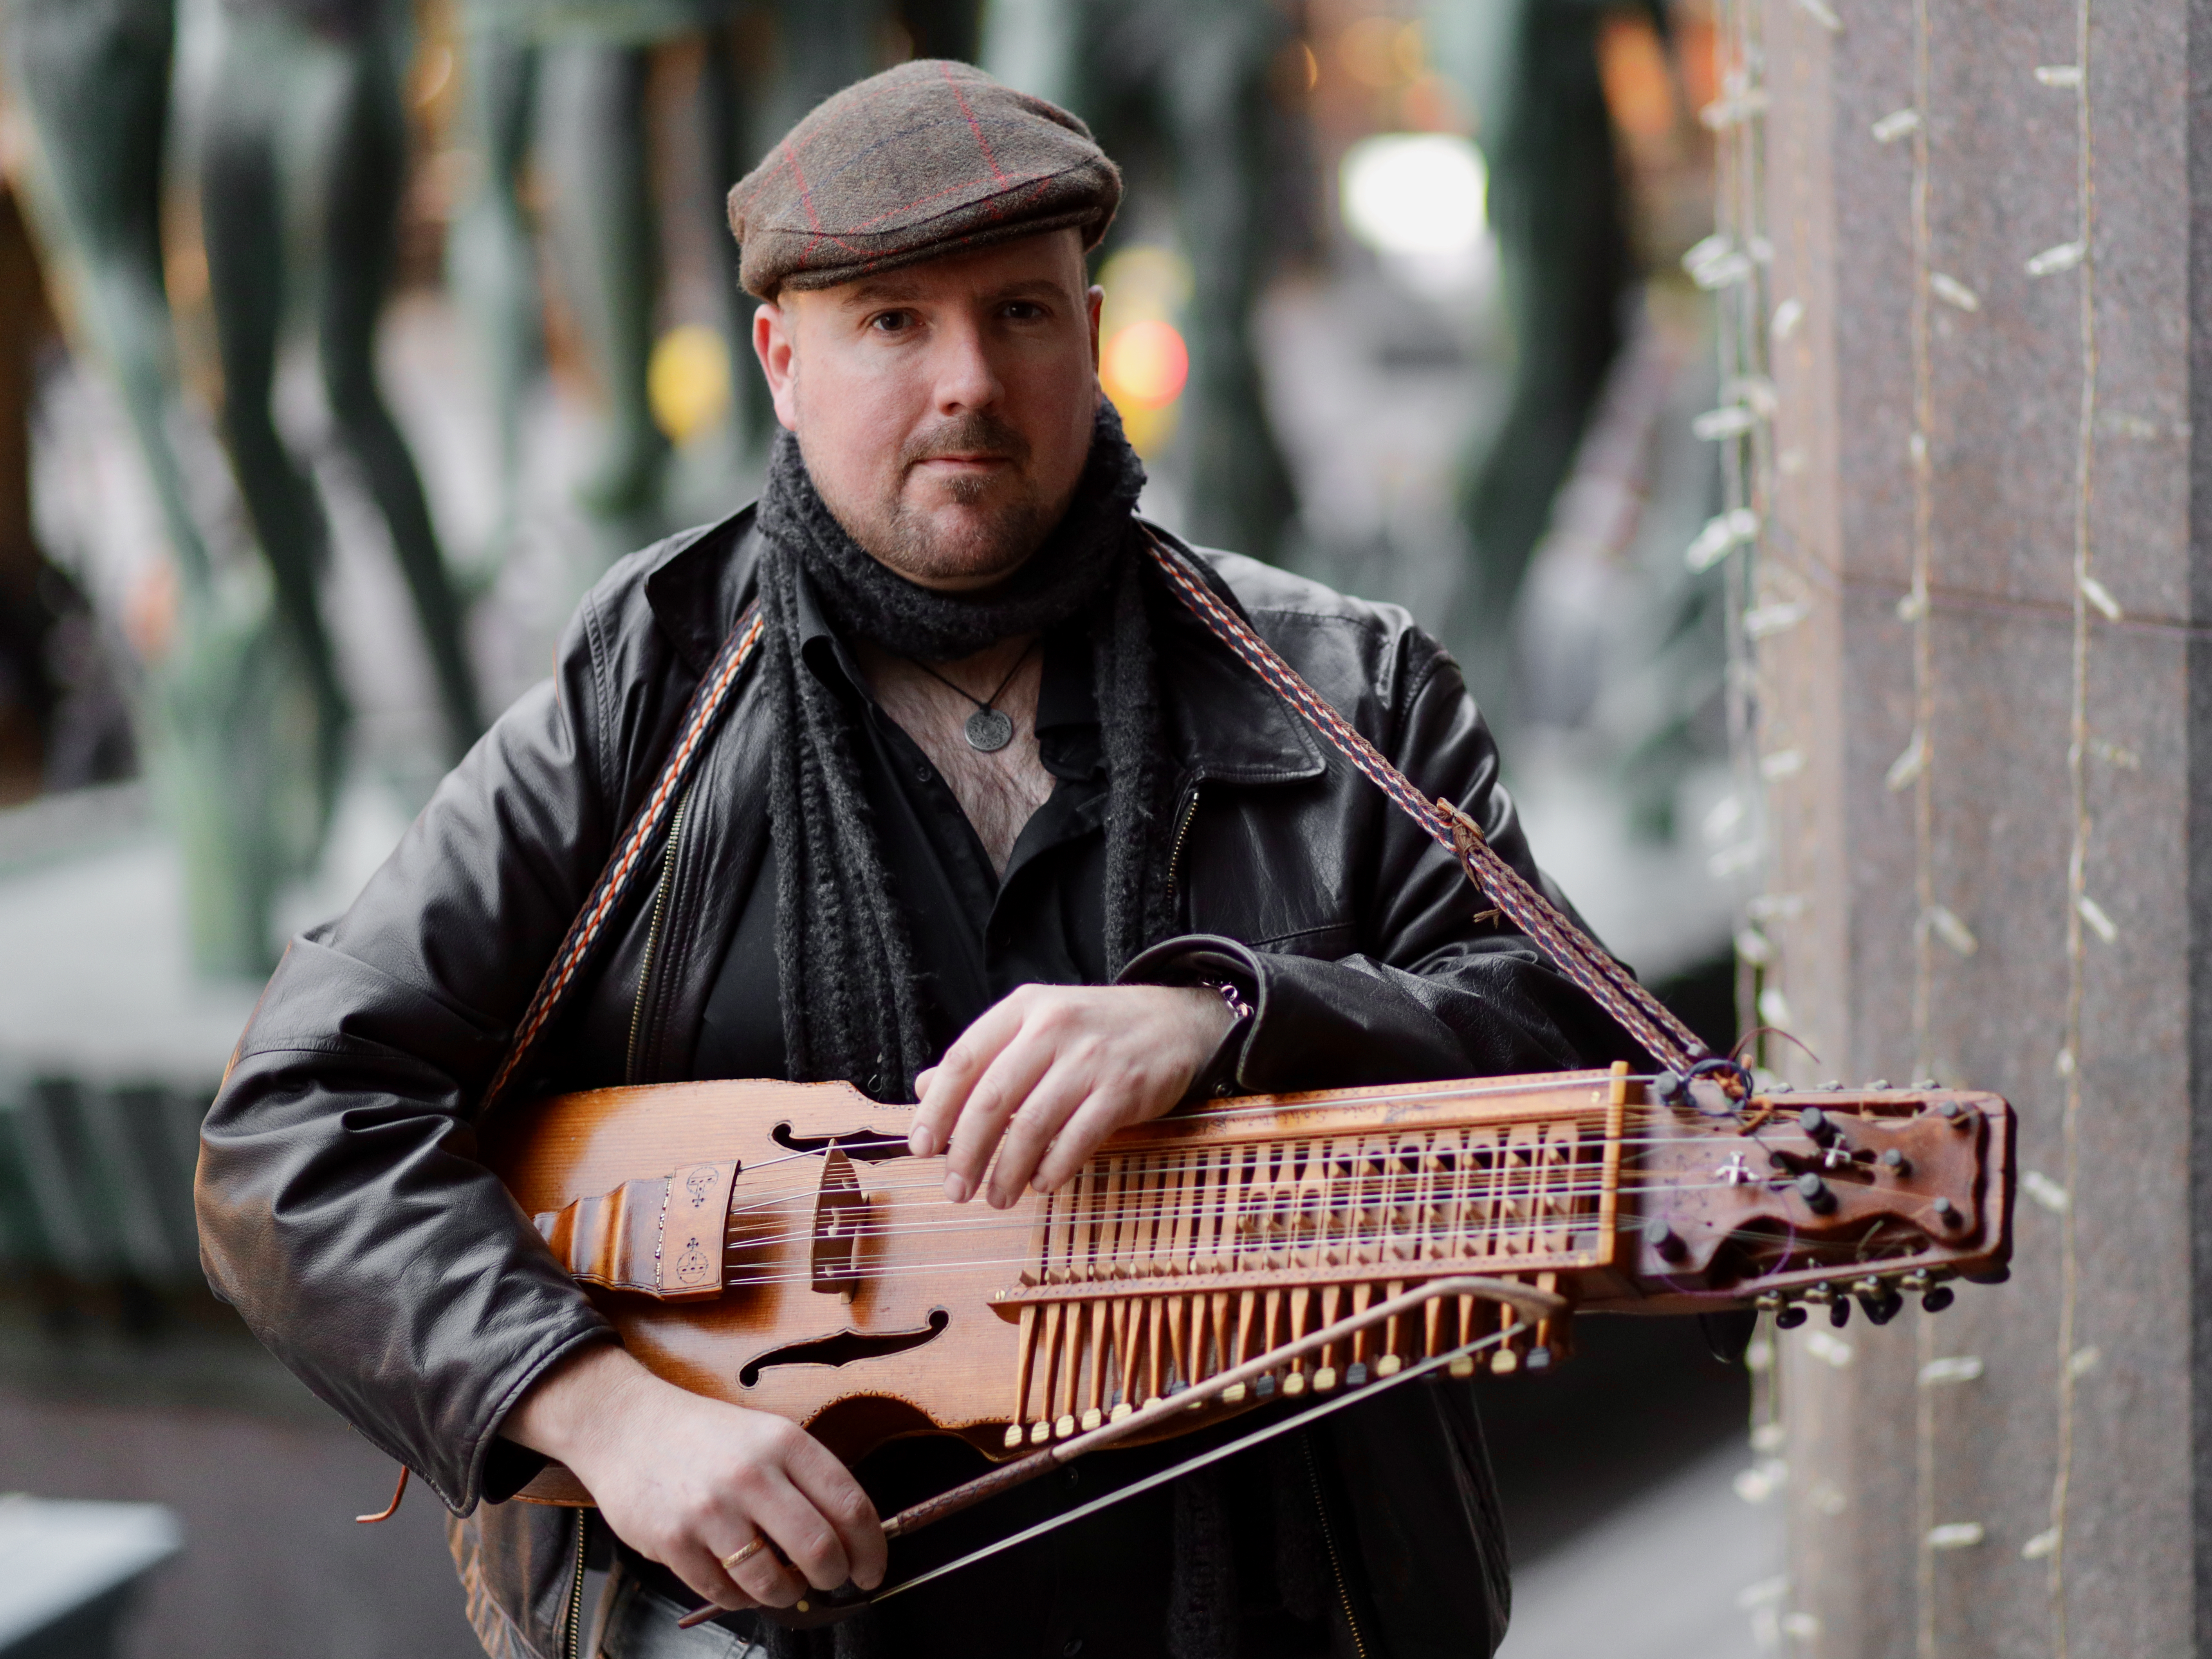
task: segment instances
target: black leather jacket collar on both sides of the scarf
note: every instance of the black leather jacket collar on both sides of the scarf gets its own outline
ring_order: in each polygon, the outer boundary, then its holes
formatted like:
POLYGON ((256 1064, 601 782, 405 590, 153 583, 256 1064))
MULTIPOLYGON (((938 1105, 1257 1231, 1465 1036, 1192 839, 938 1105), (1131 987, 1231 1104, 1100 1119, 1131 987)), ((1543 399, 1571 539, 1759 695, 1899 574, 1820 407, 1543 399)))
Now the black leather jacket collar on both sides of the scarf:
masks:
MULTIPOLYGON (((1243 615, 1243 606, 1203 553, 1146 524, 1181 551, 1206 584, 1243 615)), ((646 604, 692 672, 706 672, 721 641, 752 602, 761 535, 745 507, 719 524, 681 531, 648 549, 646 604)), ((1183 604, 1159 604, 1159 688, 1168 743, 1183 770, 1223 783, 1305 783, 1325 772, 1321 745, 1290 708, 1230 655, 1183 604)))

